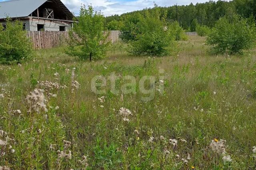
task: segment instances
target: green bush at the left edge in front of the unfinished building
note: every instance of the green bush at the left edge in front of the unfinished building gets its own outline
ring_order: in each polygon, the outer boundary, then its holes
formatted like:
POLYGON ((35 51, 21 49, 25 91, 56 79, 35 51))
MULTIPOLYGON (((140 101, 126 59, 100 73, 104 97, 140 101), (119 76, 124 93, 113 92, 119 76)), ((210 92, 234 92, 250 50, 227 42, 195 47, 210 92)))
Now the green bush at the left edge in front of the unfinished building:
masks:
POLYGON ((6 29, 0 24, 0 63, 21 63, 32 56, 32 43, 20 21, 6 19, 6 29))

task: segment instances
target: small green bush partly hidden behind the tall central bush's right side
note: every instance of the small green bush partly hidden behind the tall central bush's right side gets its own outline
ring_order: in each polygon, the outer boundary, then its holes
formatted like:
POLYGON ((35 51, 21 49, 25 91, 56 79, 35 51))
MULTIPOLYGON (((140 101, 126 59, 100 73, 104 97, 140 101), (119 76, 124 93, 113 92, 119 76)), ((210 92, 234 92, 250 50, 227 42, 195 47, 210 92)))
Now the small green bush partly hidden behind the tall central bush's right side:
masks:
POLYGON ((168 28, 172 32, 172 35, 174 36, 174 39, 176 41, 188 39, 188 36, 184 33, 184 30, 177 21, 170 23, 170 25, 168 25, 168 28))

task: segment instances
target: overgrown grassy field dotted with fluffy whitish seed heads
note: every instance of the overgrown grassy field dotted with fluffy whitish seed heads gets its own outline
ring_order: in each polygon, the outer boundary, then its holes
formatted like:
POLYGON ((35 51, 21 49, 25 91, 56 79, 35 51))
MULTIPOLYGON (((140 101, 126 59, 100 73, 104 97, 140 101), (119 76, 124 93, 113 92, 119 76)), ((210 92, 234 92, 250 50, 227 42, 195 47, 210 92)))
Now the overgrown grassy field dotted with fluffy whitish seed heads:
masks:
POLYGON ((130 56, 118 43, 100 61, 79 61, 63 47, 0 65, 0 166, 255 169, 256 51, 212 56, 204 42, 190 36, 169 57, 130 56), (116 94, 110 80, 96 82, 104 94, 92 92, 94 77, 113 74, 116 94), (136 93, 122 93, 128 75, 136 93), (139 88, 143 76, 155 78, 144 84, 148 94, 139 88))

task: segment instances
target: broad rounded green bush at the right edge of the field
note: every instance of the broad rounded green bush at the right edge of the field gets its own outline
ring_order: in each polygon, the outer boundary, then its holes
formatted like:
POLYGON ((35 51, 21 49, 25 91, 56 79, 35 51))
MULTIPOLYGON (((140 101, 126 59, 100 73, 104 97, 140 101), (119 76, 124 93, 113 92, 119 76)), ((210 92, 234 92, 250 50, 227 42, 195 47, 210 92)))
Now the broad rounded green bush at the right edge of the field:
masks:
POLYGON ((231 21, 220 18, 207 37, 207 43, 215 53, 242 53, 254 45, 255 25, 248 25, 247 20, 235 15, 231 21))

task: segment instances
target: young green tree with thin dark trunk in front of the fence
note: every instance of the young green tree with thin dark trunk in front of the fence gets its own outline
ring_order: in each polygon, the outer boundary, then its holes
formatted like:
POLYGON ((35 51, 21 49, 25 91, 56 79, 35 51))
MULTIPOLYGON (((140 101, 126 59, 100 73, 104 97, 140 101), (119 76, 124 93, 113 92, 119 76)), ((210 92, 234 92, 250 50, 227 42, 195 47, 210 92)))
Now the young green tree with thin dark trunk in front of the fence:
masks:
POLYGON ((74 19, 73 28, 69 31, 67 54, 80 59, 100 59, 106 56, 108 33, 104 33, 104 16, 94 12, 92 6, 82 6, 80 16, 74 19))

